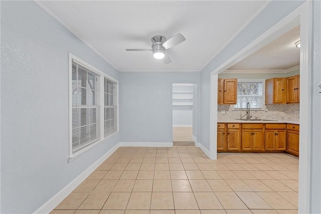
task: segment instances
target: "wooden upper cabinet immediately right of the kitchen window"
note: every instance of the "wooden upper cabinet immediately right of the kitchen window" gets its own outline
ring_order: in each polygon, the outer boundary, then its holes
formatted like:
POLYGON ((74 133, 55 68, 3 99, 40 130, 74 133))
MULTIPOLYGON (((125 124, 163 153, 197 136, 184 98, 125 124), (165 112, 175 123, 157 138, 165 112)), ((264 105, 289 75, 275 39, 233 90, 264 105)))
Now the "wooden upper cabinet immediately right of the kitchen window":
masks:
POLYGON ((286 78, 265 80, 265 104, 286 104, 286 78))

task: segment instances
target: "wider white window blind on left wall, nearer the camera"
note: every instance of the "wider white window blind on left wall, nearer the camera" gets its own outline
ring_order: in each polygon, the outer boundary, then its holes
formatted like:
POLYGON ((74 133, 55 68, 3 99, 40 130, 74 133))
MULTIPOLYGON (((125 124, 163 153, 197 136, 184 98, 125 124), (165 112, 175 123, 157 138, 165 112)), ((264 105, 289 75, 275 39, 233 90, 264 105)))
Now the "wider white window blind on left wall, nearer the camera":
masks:
POLYGON ((100 139, 99 75, 72 61, 72 152, 100 139))

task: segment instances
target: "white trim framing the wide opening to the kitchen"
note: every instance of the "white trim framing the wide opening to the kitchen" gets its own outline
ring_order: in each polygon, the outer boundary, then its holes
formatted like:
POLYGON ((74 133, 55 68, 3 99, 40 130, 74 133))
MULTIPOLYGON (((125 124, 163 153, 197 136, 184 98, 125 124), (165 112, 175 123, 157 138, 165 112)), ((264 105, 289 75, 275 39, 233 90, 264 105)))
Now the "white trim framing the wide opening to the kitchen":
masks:
POLYGON ((298 20, 300 23, 300 104, 299 104, 299 124, 300 128, 299 141, 304 142, 299 144, 300 159, 299 159, 299 191, 298 191, 298 212, 299 213, 309 213, 310 204, 310 146, 311 146, 311 43, 309 39, 311 38, 310 32, 310 17, 311 14, 311 4, 306 2, 302 4, 297 10, 290 13, 288 16, 283 18, 280 22, 275 24, 271 29, 266 31, 251 44, 247 45, 237 54, 232 56, 229 60, 225 61, 218 68, 216 68, 211 73, 211 116, 210 116, 210 154, 212 159, 217 158, 217 82, 218 74, 229 68, 236 62, 244 59, 246 56, 258 50, 260 47, 268 44, 276 38, 276 36, 286 32, 287 27, 291 27, 292 24, 298 20))

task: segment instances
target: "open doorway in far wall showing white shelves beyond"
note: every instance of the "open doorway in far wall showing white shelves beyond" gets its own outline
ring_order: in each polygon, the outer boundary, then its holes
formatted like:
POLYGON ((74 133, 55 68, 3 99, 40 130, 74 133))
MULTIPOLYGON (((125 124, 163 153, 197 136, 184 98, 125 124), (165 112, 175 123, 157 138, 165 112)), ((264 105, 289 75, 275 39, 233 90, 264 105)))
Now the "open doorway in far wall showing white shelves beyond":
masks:
POLYGON ((194 84, 173 84, 173 146, 194 146, 194 84))

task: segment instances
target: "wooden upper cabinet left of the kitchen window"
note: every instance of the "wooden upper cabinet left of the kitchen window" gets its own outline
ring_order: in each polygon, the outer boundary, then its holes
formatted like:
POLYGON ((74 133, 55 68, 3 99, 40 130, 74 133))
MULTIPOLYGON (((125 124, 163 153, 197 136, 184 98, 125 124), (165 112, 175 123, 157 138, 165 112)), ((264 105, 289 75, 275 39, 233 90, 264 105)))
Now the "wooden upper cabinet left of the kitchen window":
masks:
POLYGON ((236 104, 237 79, 218 79, 218 104, 236 104))

